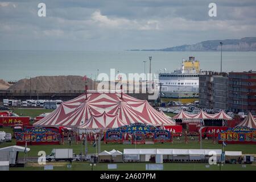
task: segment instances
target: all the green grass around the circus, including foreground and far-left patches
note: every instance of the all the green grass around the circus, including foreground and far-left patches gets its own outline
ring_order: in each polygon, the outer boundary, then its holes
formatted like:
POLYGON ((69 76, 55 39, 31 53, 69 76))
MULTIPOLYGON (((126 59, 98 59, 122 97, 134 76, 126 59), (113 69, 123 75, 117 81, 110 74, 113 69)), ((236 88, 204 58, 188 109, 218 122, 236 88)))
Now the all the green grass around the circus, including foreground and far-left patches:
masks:
MULTIPOLYGON (((30 117, 35 117, 36 115, 49 112, 51 110, 46 109, 15 109, 15 113, 27 115, 30 117)), ((6 131, 6 133, 13 134, 11 128, 2 128, 0 131, 6 131)), ((101 143, 101 151, 111 151, 113 149, 123 152, 124 148, 184 148, 184 149, 198 149, 200 148, 200 143, 198 140, 193 142, 188 140, 188 143, 184 143, 184 139, 181 138, 183 142, 174 143, 155 143, 155 144, 105 144, 101 143)), ((222 149, 221 144, 214 144, 212 140, 203 140, 203 148, 205 149, 222 149)), ((0 148, 6 146, 15 145, 15 139, 9 143, 1 143, 0 148)), ((39 145, 39 146, 28 146, 31 151, 28 152, 28 157, 38 157, 39 151, 45 151, 46 154, 50 154, 53 148, 73 148, 75 154, 80 154, 81 150, 84 154, 85 147, 81 145, 81 142, 72 142, 71 146, 66 142, 64 145, 39 145)), ((242 154, 256 154, 256 147, 253 144, 228 144, 225 147, 225 151, 242 151, 242 154)), ((88 154, 96 153, 96 147, 92 146, 92 143, 88 143, 88 154)), ((20 153, 19 158, 24 158, 24 154, 20 153)), ((72 164, 72 168, 67 168, 67 164, 64 166, 55 166, 55 170, 90 170, 91 167, 89 163, 86 162, 75 162, 72 164)), ((256 170, 256 164, 247 165, 246 168, 242 168, 241 164, 224 164, 221 168, 223 170, 256 170)), ((10 168, 11 170, 43 170, 43 167, 31 167, 27 166, 25 168, 10 168)), ((107 164, 96 164, 95 170, 107 170, 107 164)), ((144 170, 145 163, 118 163, 118 170, 144 170)), ((164 164, 164 170, 219 170, 219 166, 210 166, 206 168, 205 164, 185 164, 185 163, 166 163, 164 164)))

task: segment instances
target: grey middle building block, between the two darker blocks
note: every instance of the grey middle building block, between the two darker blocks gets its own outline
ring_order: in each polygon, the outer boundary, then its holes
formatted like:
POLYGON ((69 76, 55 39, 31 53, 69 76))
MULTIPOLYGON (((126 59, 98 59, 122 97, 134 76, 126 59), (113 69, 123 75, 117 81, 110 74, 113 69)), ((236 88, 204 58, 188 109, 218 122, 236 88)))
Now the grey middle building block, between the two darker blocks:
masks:
POLYGON ((228 110, 228 75, 213 76, 213 108, 228 110))

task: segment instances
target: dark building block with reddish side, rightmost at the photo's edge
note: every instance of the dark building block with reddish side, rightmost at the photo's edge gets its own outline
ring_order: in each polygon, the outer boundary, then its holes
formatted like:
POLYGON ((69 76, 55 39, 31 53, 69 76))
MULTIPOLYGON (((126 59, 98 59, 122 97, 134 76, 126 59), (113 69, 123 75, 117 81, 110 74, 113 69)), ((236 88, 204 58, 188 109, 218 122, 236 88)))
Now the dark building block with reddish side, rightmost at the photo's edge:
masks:
POLYGON ((256 114, 256 72, 229 73, 229 110, 256 114))

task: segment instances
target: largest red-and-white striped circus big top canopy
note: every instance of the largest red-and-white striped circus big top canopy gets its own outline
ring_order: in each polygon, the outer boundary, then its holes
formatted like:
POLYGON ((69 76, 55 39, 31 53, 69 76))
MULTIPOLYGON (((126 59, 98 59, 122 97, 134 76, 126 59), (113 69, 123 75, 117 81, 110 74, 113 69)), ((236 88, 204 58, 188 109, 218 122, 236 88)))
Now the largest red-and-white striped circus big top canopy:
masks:
POLYGON ((106 128, 146 123, 175 125, 156 111, 147 101, 121 93, 88 93, 63 102, 55 111, 34 123, 34 126, 69 126, 106 128))

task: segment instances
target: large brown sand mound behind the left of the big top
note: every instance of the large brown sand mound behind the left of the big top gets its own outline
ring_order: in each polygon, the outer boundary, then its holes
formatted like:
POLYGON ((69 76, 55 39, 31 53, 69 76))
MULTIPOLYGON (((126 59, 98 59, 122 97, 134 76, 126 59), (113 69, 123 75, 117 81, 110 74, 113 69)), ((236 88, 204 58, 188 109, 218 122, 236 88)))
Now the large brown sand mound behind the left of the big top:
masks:
MULTIPOLYGON (((87 78, 88 89, 94 89, 94 81, 87 78), (92 84, 91 84, 92 82, 92 84), (90 87, 92 85, 92 88, 90 87)), ((97 88, 97 84, 96 88, 97 88)), ((85 82, 82 76, 38 76, 34 78, 22 79, 10 86, 8 90, 38 90, 38 92, 67 92, 67 90, 84 90, 85 82), (30 84, 31 83, 31 84, 30 84)))

